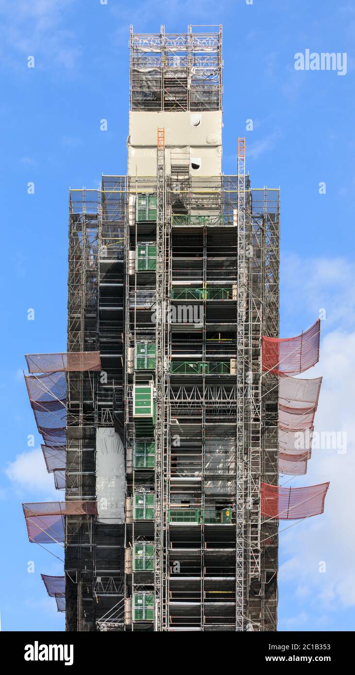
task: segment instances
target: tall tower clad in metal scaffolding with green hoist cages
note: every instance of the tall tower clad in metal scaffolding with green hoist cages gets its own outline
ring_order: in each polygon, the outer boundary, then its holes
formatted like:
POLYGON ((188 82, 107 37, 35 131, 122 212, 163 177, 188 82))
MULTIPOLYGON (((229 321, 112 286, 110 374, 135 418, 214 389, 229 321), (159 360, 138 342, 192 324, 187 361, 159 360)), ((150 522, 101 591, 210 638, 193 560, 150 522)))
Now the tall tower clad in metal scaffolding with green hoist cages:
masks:
POLYGON ((102 371, 67 373, 65 498, 99 510, 65 519, 67 630, 276 629, 279 191, 251 188, 244 138, 221 171, 221 37, 131 29, 128 173, 70 192, 67 350, 102 371))

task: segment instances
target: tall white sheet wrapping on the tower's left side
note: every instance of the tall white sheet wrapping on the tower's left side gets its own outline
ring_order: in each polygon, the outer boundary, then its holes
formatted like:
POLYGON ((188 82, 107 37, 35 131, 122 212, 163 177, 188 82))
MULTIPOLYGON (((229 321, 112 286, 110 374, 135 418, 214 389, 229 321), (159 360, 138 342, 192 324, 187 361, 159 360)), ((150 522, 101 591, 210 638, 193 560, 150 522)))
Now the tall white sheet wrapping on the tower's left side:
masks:
POLYGON ((96 433, 97 522, 124 522, 124 445, 115 429, 103 427, 96 433))

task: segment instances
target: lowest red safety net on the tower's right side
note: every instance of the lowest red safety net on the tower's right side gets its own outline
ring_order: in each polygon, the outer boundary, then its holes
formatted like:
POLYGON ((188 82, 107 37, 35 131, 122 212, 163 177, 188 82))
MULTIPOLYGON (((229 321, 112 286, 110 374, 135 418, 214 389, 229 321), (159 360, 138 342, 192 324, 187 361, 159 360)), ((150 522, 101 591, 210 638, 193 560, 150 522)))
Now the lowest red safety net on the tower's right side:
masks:
POLYGON ((261 515, 279 520, 309 518, 323 513, 329 483, 309 487, 281 487, 261 483, 261 515))

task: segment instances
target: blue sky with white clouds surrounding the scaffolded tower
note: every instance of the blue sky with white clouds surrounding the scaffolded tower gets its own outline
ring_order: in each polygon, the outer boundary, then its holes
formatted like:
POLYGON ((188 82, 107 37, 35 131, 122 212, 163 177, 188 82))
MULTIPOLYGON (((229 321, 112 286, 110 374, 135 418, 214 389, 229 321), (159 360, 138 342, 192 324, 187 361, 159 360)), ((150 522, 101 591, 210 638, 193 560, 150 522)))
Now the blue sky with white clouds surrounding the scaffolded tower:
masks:
MULTIPOLYGON (((161 24, 167 32, 223 24, 223 170, 235 173, 237 138, 245 135, 252 185, 281 187, 281 336, 298 334, 326 309, 321 361, 305 377, 324 376, 316 428, 348 435, 345 454, 313 452, 308 475, 288 483, 329 479, 331 487, 323 516, 281 533, 279 630, 354 630, 350 0, 0 0, 2 628, 63 629, 40 580, 40 572, 60 574, 62 564, 28 543, 22 515, 22 502, 58 499, 38 452, 23 354, 65 351, 68 187, 97 188, 101 173, 126 172, 131 23, 140 32, 157 32, 161 24), (295 53, 306 49, 348 53, 346 76, 294 70, 295 53), (100 131, 102 118, 107 132, 100 131), (250 118, 254 130, 247 132, 250 118), (27 320, 28 308, 34 321, 27 320), (36 443, 28 448, 32 433, 36 443)), ((62 556, 58 546, 51 551, 62 556)))

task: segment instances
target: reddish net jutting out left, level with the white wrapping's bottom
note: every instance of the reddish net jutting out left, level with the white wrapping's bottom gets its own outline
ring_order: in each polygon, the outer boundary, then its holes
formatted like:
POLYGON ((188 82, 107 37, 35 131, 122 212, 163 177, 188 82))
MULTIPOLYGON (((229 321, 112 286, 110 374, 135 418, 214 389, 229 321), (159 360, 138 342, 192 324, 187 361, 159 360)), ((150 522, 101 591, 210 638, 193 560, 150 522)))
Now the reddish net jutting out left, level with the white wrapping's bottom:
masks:
POLYGON ((97 515, 96 502, 35 502, 22 506, 28 538, 34 543, 62 543, 65 516, 97 515))

